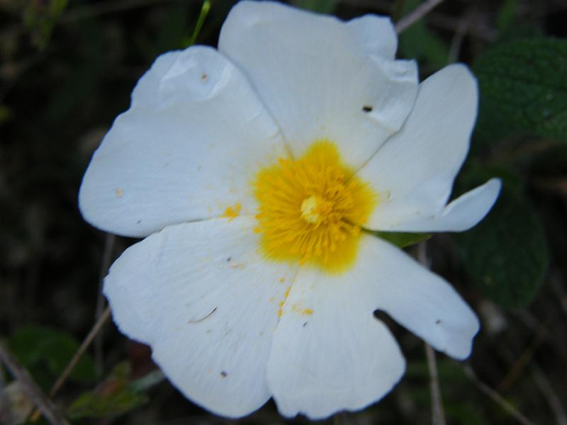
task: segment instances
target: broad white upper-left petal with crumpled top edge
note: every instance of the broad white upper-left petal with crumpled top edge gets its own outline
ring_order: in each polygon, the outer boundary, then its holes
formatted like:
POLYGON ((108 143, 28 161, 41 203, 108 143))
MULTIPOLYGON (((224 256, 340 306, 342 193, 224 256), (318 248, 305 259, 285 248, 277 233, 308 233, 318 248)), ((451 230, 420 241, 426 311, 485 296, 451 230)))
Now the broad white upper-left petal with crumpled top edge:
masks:
POLYGON ((255 173, 285 155, 240 71, 209 47, 189 47, 158 57, 140 79, 91 160, 79 206, 96 227, 136 237, 237 203, 252 214, 255 173))

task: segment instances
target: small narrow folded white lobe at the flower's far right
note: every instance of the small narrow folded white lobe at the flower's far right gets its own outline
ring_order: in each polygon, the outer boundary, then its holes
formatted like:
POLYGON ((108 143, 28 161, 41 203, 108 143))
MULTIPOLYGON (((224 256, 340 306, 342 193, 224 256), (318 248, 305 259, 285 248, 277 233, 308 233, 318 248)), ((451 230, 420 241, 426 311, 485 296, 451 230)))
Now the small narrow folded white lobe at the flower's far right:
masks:
POLYGON ((392 230, 405 232, 463 232, 476 226, 493 207, 500 193, 500 179, 490 179, 482 186, 452 200, 436 216, 416 215, 392 230))

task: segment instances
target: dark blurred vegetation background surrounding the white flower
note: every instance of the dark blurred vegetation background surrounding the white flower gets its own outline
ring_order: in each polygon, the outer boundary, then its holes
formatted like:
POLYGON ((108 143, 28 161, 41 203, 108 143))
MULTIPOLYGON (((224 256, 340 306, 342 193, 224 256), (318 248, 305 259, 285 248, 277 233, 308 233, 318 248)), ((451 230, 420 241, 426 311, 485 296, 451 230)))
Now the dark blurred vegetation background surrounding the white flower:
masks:
MULTIPOLYGON (((105 256, 135 242, 82 220, 77 192, 91 154, 155 57, 193 42, 216 45, 234 3, 0 0, 0 341, 46 392, 101 313, 105 256)), ((345 19, 399 18, 420 1, 295 4, 345 19)), ((567 423, 566 22, 561 0, 445 1, 400 36, 398 49, 418 60, 422 78, 450 62, 478 77, 478 125, 455 191, 499 176, 503 193, 481 225, 434 235, 428 251, 434 271, 481 317, 468 364, 534 424, 567 423)), ((428 236, 390 240, 405 246, 428 236)), ((388 325, 408 358, 406 377, 383 401, 339 421, 430 423, 423 344, 388 325)), ((437 359, 449 424, 516 423, 463 364, 437 359)), ((27 416, 13 383, 0 368, 0 400, 27 416)), ((149 348, 110 324, 54 401, 76 424, 228 423, 179 395, 149 348)), ((0 420, 6 414, 0 403, 0 420)), ((286 421, 269 402, 241 422, 286 421)))

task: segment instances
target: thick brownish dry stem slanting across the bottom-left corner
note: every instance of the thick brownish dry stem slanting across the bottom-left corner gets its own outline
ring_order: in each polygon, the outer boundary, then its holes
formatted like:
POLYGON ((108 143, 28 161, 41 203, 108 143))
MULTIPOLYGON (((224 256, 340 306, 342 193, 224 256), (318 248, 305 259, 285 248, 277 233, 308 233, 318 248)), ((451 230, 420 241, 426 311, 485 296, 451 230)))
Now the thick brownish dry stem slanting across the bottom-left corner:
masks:
POLYGON ((31 378, 28 371, 18 363, 16 358, 12 356, 3 344, 0 344, 0 361, 6 365, 6 368, 10 370, 13 377, 20 382, 23 391, 30 397, 35 406, 40 409, 40 412, 43 413, 43 416, 45 416, 45 419, 47 419, 50 424, 69 425, 69 422, 65 420, 62 414, 57 412, 55 405, 47 398, 41 388, 38 387, 33 378, 31 378))

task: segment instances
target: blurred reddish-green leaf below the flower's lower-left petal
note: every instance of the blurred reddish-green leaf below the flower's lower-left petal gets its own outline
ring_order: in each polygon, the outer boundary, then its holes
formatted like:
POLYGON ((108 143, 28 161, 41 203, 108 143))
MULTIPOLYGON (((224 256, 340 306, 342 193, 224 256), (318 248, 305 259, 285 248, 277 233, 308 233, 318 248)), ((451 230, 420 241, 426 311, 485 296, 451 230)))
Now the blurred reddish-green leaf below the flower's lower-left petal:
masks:
POLYGON ((129 382, 130 365, 120 363, 94 391, 84 392, 67 409, 71 419, 119 416, 147 402, 129 382))

